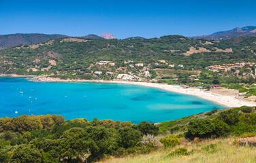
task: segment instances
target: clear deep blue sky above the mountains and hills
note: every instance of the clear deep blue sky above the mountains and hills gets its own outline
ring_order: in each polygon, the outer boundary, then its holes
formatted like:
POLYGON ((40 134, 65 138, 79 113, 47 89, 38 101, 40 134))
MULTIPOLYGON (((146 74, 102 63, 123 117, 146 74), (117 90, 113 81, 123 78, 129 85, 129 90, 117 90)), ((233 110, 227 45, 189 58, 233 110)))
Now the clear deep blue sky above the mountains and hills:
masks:
POLYGON ((0 0, 0 21, 1 35, 208 35, 256 26, 256 1, 0 0))

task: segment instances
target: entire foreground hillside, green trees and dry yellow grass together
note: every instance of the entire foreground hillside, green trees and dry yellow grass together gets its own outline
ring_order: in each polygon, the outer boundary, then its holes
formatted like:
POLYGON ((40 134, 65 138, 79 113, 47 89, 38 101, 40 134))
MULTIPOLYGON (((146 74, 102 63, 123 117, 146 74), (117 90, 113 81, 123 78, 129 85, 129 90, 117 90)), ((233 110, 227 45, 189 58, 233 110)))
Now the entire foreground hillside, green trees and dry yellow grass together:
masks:
POLYGON ((158 125, 65 121, 61 115, 2 117, 0 161, 255 162, 255 117, 255 107, 213 110, 158 125))

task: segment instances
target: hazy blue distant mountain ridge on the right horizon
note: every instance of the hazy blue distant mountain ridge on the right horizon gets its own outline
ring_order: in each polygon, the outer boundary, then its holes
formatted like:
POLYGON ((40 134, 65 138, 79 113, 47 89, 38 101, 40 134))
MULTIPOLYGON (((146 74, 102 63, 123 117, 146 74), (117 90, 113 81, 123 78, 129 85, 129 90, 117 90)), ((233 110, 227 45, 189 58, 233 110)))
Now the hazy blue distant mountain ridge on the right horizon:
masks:
POLYGON ((236 27, 229 31, 219 31, 216 33, 212 33, 212 35, 202 35, 202 36, 195 36, 191 38, 219 41, 221 39, 232 39, 235 37, 246 37, 246 36, 256 37, 256 26, 244 26, 242 28, 236 27))

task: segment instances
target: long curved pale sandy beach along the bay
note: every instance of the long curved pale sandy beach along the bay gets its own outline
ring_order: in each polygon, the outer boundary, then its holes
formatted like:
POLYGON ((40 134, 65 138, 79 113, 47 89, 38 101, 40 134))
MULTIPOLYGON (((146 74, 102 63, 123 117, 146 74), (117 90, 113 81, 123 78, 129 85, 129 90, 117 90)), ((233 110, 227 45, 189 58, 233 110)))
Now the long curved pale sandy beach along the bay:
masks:
MULTIPOLYGON (((241 107, 241 106, 256 106, 253 101, 248 101, 246 99, 237 98, 234 94, 218 94, 218 92, 204 91, 204 89, 199 88, 182 88, 181 86, 167 85, 167 84, 155 84, 148 82, 125 82, 125 81, 105 81, 105 80, 83 80, 83 79, 58 79, 52 77, 33 77, 30 79, 33 82, 101 82, 101 83, 119 83, 119 84, 135 84, 139 86, 148 86, 167 90, 170 92, 177 92, 180 94, 188 94, 192 96, 197 96, 199 98, 204 98, 208 101, 218 103, 225 107, 241 107)), ((224 91, 227 89, 223 88, 224 91)))

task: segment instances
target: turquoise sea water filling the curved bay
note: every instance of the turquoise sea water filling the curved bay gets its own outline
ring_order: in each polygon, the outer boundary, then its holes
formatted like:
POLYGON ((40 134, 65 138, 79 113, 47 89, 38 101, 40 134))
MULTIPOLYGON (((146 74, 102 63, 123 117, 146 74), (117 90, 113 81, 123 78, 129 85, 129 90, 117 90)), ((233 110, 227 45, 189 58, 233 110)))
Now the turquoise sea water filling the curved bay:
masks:
POLYGON ((195 96, 129 84, 29 82, 0 77, 0 117, 63 115, 138 124, 176 120, 223 106, 195 96), (15 113, 15 112, 18 113, 15 113))

